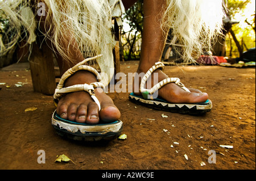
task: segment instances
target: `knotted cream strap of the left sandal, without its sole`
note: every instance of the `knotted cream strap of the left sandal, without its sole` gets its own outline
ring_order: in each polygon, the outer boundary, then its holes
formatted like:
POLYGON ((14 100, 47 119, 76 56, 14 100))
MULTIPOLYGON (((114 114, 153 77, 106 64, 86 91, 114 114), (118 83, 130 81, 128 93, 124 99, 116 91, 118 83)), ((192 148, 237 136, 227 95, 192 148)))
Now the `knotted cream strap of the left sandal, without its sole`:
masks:
POLYGON ((94 69, 88 65, 82 65, 82 64, 85 64, 85 62, 87 62, 89 60, 94 60, 98 57, 102 57, 102 54, 92 57, 92 58, 86 58, 85 60, 79 62, 79 64, 73 66, 73 68, 70 68, 67 71, 65 71, 65 73, 61 76, 60 81, 55 89, 55 94, 53 95, 55 102, 57 102, 61 98, 62 95, 67 94, 69 92, 86 91, 90 94, 90 96, 92 97, 94 102, 97 103, 99 110, 101 110, 100 102, 96 98, 95 91, 94 91, 94 89, 96 89, 97 87, 101 87, 105 91, 104 84, 100 82, 101 76, 96 69, 94 69), (91 73, 93 73, 96 76, 98 82, 90 83, 90 85, 85 83, 85 84, 73 85, 73 86, 63 88, 65 80, 67 78, 69 78, 71 75, 73 75, 74 73, 76 73, 76 71, 79 71, 79 70, 90 71, 91 73))

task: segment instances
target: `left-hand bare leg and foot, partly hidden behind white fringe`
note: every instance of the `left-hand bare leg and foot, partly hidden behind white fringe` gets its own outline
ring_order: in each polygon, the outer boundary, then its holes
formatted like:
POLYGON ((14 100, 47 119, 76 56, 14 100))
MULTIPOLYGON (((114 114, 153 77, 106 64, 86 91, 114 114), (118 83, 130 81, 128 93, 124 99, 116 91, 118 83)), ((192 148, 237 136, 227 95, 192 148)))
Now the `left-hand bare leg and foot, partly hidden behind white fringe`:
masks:
MULTIPOLYGON (((41 30, 44 33, 47 32, 48 40, 50 40, 53 32, 51 32, 52 29, 49 27, 52 25, 49 24, 46 16, 38 16, 37 19, 40 23, 41 30)), ((66 30, 65 32, 61 32, 61 36, 59 36, 57 41, 59 41, 61 49, 66 51, 65 54, 67 57, 63 57, 55 45, 52 44, 61 75, 69 68, 72 68, 85 59, 77 45, 73 33, 68 31, 68 29, 66 30)), ((88 71, 81 70, 69 77, 67 81, 65 81, 64 87, 84 83, 90 84, 93 82, 97 82, 96 77, 88 71)), ((113 100, 101 90, 96 89, 95 94, 101 103, 100 111, 88 92, 79 91, 64 95, 57 104, 56 112, 63 119, 76 121, 78 123, 97 124, 100 120, 111 122, 119 119, 120 112, 117 107, 114 106, 113 100)))

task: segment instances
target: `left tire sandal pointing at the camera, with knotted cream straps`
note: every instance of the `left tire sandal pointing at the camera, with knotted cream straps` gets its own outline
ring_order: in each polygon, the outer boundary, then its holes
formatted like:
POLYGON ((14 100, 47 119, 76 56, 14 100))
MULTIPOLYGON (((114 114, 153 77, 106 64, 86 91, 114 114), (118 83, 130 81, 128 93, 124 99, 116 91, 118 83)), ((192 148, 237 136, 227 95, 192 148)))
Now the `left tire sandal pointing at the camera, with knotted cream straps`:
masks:
MULTIPOLYGON (((94 60, 100 56, 86 58, 84 61, 80 62, 79 64, 73 66, 73 68, 67 70, 62 77, 60 78, 59 84, 55 89, 55 94, 53 95, 55 106, 59 102, 59 99, 69 93, 69 92, 77 92, 77 91, 86 91, 90 94, 94 102, 97 103, 99 111, 101 110, 100 102, 96 98, 94 94, 94 89, 101 87, 105 89, 103 83, 101 83, 101 76, 98 71, 90 66, 83 65, 85 62, 89 60, 94 60), (93 73, 98 82, 82 85, 73 85, 69 87, 64 86, 65 80, 70 77, 72 74, 76 73, 79 70, 86 70, 93 73)), ((80 140, 80 141, 100 141, 100 140, 113 140, 114 138, 118 137, 122 132, 122 121, 116 120, 112 123, 107 124, 86 124, 86 123, 76 123, 75 121, 69 121, 66 119, 62 119, 59 115, 57 115, 56 110, 53 112, 52 115, 52 125, 56 129, 56 132, 60 136, 68 137, 73 140, 80 140)))

